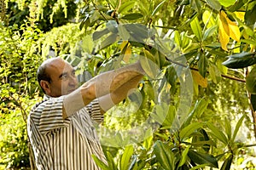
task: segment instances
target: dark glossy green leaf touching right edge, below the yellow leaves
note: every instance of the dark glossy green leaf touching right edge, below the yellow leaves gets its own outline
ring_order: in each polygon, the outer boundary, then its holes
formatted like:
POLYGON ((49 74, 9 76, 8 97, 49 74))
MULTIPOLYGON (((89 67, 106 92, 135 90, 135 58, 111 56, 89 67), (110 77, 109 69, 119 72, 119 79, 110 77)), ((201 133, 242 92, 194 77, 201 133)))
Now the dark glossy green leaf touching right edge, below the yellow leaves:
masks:
POLYGON ((225 60, 222 64, 232 69, 240 69, 256 64, 254 53, 243 52, 240 54, 233 54, 228 57, 229 59, 225 60))

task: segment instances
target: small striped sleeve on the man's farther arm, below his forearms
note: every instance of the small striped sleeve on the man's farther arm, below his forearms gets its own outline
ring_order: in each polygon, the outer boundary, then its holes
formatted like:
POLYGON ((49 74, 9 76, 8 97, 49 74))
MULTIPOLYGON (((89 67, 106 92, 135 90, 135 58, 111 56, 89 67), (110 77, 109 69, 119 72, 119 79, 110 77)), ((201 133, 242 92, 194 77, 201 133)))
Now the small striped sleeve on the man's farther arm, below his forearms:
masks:
POLYGON ((90 102, 90 105, 86 106, 87 111, 90 114, 90 118, 94 123, 101 123, 104 120, 104 116, 101 112, 101 106, 99 105, 98 99, 90 102))

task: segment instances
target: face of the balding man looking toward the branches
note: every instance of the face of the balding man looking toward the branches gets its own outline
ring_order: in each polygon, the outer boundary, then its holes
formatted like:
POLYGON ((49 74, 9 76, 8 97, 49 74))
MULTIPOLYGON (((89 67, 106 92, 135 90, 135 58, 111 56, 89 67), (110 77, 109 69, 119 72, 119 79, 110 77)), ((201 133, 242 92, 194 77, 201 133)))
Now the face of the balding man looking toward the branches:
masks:
POLYGON ((55 59, 49 63, 46 68, 51 82, 46 94, 51 97, 60 97, 61 95, 70 94, 78 88, 78 80, 75 76, 75 70, 62 59, 55 59))

